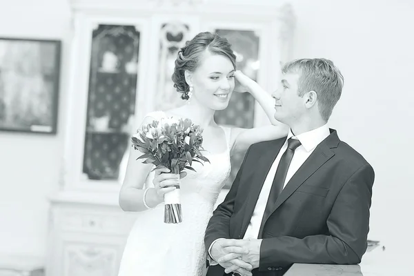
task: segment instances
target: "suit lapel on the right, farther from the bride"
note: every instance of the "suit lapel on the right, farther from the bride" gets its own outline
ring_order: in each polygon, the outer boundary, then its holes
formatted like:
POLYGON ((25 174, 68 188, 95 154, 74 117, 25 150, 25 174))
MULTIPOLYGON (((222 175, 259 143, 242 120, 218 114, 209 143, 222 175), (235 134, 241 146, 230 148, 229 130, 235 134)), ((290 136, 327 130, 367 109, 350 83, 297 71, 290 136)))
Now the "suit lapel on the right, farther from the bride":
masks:
POLYGON ((277 197, 275 201, 275 205, 273 206, 271 212, 268 216, 263 218, 262 224, 266 223, 266 220, 270 215, 272 215, 279 206, 281 206, 290 195, 292 195, 297 188, 299 188, 304 181, 311 177, 313 173, 315 173, 321 166, 323 166, 326 161, 331 159, 335 153, 331 150, 331 148, 336 148, 339 144, 339 138, 337 137, 336 130, 331 129, 331 135, 329 135, 321 144, 315 148, 312 154, 306 159, 304 164, 295 172, 293 177, 288 181, 285 188, 280 193, 279 197, 277 197))

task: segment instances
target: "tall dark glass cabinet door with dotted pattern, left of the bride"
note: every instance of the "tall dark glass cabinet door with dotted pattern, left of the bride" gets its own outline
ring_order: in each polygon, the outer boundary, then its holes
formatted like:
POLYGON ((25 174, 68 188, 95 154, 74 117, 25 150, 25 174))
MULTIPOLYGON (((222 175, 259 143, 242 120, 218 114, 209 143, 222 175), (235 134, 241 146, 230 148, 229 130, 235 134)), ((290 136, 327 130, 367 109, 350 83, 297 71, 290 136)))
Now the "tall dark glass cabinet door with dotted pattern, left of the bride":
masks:
POLYGON ((99 25, 92 31, 83 174, 115 180, 129 150, 137 95, 140 32, 99 25))

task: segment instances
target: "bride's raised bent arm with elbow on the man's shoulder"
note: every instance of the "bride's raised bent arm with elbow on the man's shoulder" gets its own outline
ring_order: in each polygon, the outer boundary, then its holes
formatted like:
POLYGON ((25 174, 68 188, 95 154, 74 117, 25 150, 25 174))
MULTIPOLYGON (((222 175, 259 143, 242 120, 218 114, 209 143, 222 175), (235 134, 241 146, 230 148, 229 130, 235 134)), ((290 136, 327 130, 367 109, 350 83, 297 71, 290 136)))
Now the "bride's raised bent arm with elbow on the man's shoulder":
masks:
POLYGON ((252 144, 285 137, 289 130, 288 126, 275 119, 275 100, 268 92, 240 71, 235 72, 235 77, 259 102, 272 125, 258 128, 232 128, 230 136, 231 155, 246 151, 252 144))

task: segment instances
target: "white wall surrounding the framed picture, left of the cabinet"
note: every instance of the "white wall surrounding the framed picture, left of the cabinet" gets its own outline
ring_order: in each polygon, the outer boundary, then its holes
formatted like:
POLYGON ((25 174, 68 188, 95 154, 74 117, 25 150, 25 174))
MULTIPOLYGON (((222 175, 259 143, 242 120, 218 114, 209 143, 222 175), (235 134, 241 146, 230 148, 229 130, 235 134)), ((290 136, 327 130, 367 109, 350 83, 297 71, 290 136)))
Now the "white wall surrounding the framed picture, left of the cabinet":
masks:
POLYGON ((0 3, 0 37, 61 39, 58 133, 0 132, 0 253, 44 255, 48 226, 46 196, 57 190, 68 86, 70 13, 66 0, 0 3))

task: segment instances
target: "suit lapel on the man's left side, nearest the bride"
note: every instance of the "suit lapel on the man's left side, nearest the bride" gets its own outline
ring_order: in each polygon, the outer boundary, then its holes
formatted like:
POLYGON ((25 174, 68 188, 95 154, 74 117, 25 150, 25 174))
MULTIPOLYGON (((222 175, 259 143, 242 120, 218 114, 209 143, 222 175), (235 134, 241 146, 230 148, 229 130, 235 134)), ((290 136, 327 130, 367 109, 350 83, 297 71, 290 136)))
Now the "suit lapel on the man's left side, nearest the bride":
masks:
POLYGON ((270 167, 275 161, 277 154, 279 153, 285 141, 286 137, 273 140, 270 141, 270 143, 263 144, 264 148, 259 149, 264 153, 262 157, 257 161, 257 167, 253 168, 254 176, 252 177, 252 181, 249 184, 251 188, 248 190, 248 198, 246 199, 246 205, 244 209, 244 217, 241 229, 242 235, 244 235, 247 230, 250 218, 252 217, 253 211, 255 210, 257 199, 259 199, 260 192, 262 191, 262 187, 268 175, 270 167))

